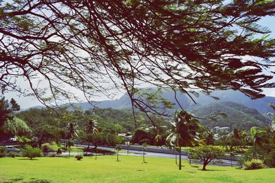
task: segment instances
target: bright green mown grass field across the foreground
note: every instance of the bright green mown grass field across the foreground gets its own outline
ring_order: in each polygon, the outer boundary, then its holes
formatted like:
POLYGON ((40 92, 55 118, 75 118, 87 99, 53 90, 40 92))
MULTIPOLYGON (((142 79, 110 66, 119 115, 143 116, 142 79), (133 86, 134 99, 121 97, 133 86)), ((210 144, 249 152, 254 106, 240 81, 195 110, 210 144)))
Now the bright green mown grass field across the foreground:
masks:
POLYGON ((184 167, 169 158, 98 156, 94 158, 0 158, 0 182, 275 182, 275 169, 245 171, 234 167, 184 167))

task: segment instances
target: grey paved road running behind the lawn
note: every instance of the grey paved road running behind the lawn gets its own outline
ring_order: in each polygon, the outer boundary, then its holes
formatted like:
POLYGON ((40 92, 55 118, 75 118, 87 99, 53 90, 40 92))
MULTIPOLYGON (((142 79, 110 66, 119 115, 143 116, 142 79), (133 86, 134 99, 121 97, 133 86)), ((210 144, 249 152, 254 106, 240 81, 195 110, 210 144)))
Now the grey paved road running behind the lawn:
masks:
MULTIPOLYGON (((87 145, 78 145, 78 147, 87 147, 87 145)), ((90 147, 94 147, 91 146, 90 147)), ((98 147, 100 149, 107 149, 107 150, 111 150, 114 151, 114 148, 111 147, 98 147)), ((122 149, 123 151, 125 151, 126 149, 122 149)), ((128 156, 142 156, 143 151, 134 151, 134 150, 129 150, 129 154, 128 156)), ((126 155, 125 153, 120 153, 120 155, 126 155)), ((148 152, 146 151, 146 157, 156 157, 156 158, 175 158, 175 154, 163 154, 163 153, 155 153, 155 152, 148 152)), ((177 156, 177 158, 179 158, 179 156, 177 156)), ((186 159, 187 160, 187 156, 182 155, 181 156, 182 159, 186 159)), ((196 161, 197 160, 192 160, 192 161, 196 161)), ((213 164, 210 162, 210 164, 213 164)), ((232 161, 233 166, 236 166, 237 162, 236 161, 232 161)), ((217 163, 216 165, 221 165, 221 166, 231 166, 231 161, 230 160, 221 160, 221 163, 217 163)))

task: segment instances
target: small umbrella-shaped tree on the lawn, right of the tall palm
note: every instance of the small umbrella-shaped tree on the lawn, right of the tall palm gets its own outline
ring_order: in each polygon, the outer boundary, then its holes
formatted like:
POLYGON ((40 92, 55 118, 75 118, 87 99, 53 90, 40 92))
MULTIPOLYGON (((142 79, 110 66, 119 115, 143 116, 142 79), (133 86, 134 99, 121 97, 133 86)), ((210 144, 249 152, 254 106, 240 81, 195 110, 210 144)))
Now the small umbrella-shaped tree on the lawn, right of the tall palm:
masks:
POLYGON ((188 154, 191 154, 194 158, 203 160, 202 170, 206 170, 206 165, 214 159, 221 158, 221 156, 224 154, 224 151, 219 147, 203 145, 189 149, 188 154))

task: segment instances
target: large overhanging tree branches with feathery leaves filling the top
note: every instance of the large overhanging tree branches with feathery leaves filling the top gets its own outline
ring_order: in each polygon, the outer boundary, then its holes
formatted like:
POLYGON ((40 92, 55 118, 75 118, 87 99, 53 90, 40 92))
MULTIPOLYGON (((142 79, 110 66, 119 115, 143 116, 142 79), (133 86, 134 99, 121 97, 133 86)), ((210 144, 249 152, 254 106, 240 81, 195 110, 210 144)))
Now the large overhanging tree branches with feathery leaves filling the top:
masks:
POLYGON ((233 89, 254 99, 274 87, 263 69, 274 63, 275 40, 257 24, 275 14, 274 1, 8 1, 0 9, 0 88, 28 93, 23 77, 45 104, 76 97, 67 86, 88 100, 122 87, 136 108, 165 114, 138 95, 140 82, 191 98, 233 89))

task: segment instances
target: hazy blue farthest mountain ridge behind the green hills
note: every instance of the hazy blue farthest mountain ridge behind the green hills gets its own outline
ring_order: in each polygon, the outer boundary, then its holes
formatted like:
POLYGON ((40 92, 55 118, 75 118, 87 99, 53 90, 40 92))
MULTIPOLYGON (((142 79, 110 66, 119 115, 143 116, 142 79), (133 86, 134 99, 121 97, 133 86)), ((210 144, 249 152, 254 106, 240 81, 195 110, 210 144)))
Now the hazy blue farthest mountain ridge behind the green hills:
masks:
MULTIPOLYGON (((156 89, 153 88, 152 92, 154 92, 156 89)), ((169 101, 172 101, 173 103, 177 103, 175 100, 175 94, 172 90, 164 90, 162 97, 168 99, 169 101)), ((254 108, 261 112, 262 114, 265 112, 272 112, 272 108, 268 106, 268 103, 275 103, 275 97, 263 97, 261 99, 250 99, 243 93, 235 90, 217 90, 212 93, 212 96, 219 97, 219 100, 213 99, 212 97, 208 97, 207 95, 199 95, 199 97, 194 97, 195 101, 194 103, 190 97, 188 97, 185 94, 177 93, 177 99, 181 106, 183 106, 184 109, 190 111, 194 108, 199 108, 204 105, 208 105, 210 103, 214 102, 223 102, 223 101, 232 101, 235 103, 241 103, 245 106, 248 106, 250 108, 254 108)), ((120 99, 117 100, 107 100, 107 101, 92 101, 95 106, 98 108, 114 108, 114 109, 125 109, 125 108, 131 108, 131 100, 129 99, 128 95, 123 95, 120 99)), ((85 103, 74 103, 74 106, 80 107, 83 110, 89 110, 92 108, 91 104, 88 102, 85 103)), ((40 106, 39 106, 40 107, 40 106)), ((180 109, 179 105, 175 104, 175 109, 180 109)))

